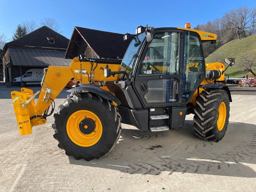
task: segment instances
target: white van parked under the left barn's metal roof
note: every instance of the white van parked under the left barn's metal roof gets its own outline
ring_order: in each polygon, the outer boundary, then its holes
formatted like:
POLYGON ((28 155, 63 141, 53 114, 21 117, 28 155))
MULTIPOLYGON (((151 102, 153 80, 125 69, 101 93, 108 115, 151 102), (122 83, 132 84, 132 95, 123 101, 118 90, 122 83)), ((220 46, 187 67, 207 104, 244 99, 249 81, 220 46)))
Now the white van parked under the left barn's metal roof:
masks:
MULTIPOLYGON (((29 69, 22 76, 23 86, 41 84, 44 76, 44 69, 29 69)), ((13 84, 21 86, 20 77, 13 79, 13 84)))

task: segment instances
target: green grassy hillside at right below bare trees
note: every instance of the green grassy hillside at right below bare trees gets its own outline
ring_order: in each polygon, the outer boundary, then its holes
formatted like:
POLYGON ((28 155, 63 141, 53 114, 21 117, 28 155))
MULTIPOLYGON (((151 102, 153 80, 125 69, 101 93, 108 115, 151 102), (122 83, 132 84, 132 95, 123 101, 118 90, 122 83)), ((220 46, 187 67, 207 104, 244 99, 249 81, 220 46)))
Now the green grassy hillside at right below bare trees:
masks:
MULTIPOLYGON (((219 61, 226 64, 224 62, 224 58, 235 57, 236 64, 229 67, 225 73, 230 77, 243 76, 245 72, 243 71, 244 67, 242 66, 242 58, 245 55, 248 55, 251 59, 256 58, 256 35, 228 42, 205 58, 205 62, 213 63, 219 61)), ((252 76, 251 73, 250 76, 252 76)))

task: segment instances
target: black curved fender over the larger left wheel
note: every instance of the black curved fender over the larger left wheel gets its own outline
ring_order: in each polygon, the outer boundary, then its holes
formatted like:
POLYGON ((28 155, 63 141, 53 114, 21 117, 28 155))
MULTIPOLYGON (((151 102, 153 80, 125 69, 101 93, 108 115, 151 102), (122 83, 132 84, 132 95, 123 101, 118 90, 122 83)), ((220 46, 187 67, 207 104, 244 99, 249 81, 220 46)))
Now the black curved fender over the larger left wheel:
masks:
POLYGON ((75 87, 73 89, 69 89, 67 92, 76 92, 76 91, 92 92, 97 95, 100 95, 101 97, 103 97, 106 100, 114 101, 117 105, 121 104, 121 102, 116 98, 115 95, 106 91, 105 89, 101 89, 100 87, 98 87, 97 85, 94 85, 94 84, 81 84, 80 87, 75 87))

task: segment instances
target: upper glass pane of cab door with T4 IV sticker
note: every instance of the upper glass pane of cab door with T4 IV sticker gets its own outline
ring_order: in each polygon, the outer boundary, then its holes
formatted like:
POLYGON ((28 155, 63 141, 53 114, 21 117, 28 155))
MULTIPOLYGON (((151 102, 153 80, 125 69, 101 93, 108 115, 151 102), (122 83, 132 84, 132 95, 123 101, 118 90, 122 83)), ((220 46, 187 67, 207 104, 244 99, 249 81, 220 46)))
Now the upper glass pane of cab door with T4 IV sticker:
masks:
POLYGON ((178 74, 179 52, 180 33, 156 33, 143 57, 139 75, 178 74))

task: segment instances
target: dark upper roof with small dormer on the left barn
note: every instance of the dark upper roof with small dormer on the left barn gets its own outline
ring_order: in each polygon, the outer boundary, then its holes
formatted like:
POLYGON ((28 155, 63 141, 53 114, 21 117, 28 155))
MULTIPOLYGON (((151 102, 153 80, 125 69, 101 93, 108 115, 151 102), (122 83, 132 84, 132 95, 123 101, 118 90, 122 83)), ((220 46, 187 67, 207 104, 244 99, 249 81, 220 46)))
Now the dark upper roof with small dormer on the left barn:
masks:
POLYGON ((54 49, 66 51, 68 47, 69 39, 60 35, 59 33, 53 31, 52 29, 43 26, 41 28, 28 33, 19 39, 8 42, 4 45, 3 52, 1 56, 5 54, 8 47, 31 47, 31 48, 44 48, 44 49, 54 49), (55 39, 54 43, 49 43, 47 38, 55 39))

